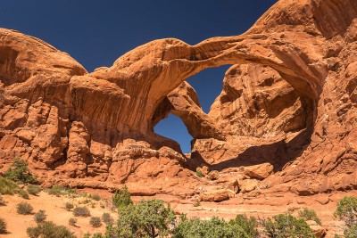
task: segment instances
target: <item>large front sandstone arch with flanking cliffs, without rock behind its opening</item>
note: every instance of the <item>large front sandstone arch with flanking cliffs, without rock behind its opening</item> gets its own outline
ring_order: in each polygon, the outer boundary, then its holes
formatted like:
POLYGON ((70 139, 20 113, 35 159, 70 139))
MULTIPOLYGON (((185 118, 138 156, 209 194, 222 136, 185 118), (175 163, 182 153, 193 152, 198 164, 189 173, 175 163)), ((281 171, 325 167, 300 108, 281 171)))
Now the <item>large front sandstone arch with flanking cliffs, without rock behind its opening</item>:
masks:
MULTIPOLYGON (((274 185, 299 194, 355 188, 356 18, 353 0, 281 0, 238 37, 198 45, 156 40, 92 73, 39 39, 0 29, 1 169, 21 156, 53 184, 105 187, 148 179, 166 192, 179 178, 197 185, 177 145, 154 135, 162 116, 155 111, 201 70, 255 63, 278 71, 313 109, 311 142, 268 178, 271 191, 274 185), (170 183, 162 188, 166 177, 170 183)), ((206 126, 193 133, 225 136, 215 123, 206 126)))

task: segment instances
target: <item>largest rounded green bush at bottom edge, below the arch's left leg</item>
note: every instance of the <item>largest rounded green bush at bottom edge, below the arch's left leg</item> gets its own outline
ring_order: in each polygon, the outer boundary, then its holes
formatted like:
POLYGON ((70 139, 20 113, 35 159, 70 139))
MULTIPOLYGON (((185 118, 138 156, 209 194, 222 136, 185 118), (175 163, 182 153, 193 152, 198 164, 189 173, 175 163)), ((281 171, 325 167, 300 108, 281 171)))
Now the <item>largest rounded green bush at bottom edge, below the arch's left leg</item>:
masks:
POLYGON ((109 237, 157 237, 170 234, 176 216, 170 205, 150 199, 119 209, 117 226, 107 231, 109 237))

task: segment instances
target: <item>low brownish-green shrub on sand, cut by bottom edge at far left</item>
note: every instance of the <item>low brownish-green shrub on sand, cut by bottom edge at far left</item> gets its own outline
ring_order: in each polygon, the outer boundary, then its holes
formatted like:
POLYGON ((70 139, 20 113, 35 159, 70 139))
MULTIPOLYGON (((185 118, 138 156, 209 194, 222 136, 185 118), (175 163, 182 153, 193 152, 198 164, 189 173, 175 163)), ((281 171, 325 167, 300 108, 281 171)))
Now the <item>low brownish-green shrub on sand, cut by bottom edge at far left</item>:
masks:
POLYGON ((30 238, 46 237, 46 238, 75 238, 66 226, 57 226, 51 221, 37 224, 35 227, 29 227, 27 234, 30 238))

